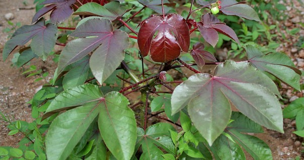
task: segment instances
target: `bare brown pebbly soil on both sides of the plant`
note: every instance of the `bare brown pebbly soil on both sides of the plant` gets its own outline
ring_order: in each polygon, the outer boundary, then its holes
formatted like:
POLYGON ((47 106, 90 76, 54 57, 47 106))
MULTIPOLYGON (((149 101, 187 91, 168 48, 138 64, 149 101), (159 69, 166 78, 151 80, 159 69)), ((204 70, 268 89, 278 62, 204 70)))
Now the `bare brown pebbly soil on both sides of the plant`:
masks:
MULTIPOLYGON (((15 17, 14 20, 12 20, 13 23, 21 22, 22 25, 30 24, 35 10, 32 9, 34 7, 32 5, 33 0, 27 0, 27 2, 29 5, 24 6, 22 0, 0 0, 0 52, 2 52, 5 42, 8 40, 8 34, 2 32, 3 29, 9 26, 4 15, 13 13, 15 17)), ((295 65, 297 65, 299 69, 303 69, 304 50, 295 48, 294 43, 298 41, 299 36, 304 36, 303 27, 299 25, 299 22, 304 23, 304 8, 296 0, 287 1, 286 6, 291 5, 294 7, 287 7, 287 21, 280 22, 279 27, 286 30, 297 27, 300 28, 301 31, 297 36, 287 36, 286 40, 280 37, 280 33, 277 33, 277 38, 283 41, 278 48, 278 51, 283 51, 291 56, 295 65)), ((11 66, 10 60, 12 57, 13 55, 5 62, 0 58, 0 111, 4 112, 9 117, 14 116, 16 120, 30 122, 32 121, 30 115, 31 108, 27 102, 32 98, 35 92, 39 90, 39 87, 46 82, 45 80, 34 82, 36 77, 25 78, 24 75, 21 75, 22 69, 11 66)), ((40 60, 36 60, 31 63, 50 73, 53 73, 56 67, 52 61, 41 62, 40 60)), ((51 74, 49 77, 51 77, 51 74)), ((280 91, 281 94, 289 100, 296 97, 302 97, 302 93, 292 92, 293 90, 285 85, 282 85, 280 91)), ((288 104, 289 100, 287 100, 285 104, 288 104)), ((285 106, 286 105, 282 105, 282 108, 285 106)), ((16 146, 22 135, 16 134, 14 136, 7 136, 9 130, 6 128, 6 125, 7 123, 0 121, 0 146, 16 146)), ((265 129, 264 134, 258 134, 256 136, 262 138, 271 147, 274 159, 293 159, 296 156, 304 158, 303 154, 301 155, 301 150, 303 149, 301 143, 303 142, 303 139, 292 133, 295 131, 294 121, 285 119, 284 130, 285 134, 280 134, 265 129)))

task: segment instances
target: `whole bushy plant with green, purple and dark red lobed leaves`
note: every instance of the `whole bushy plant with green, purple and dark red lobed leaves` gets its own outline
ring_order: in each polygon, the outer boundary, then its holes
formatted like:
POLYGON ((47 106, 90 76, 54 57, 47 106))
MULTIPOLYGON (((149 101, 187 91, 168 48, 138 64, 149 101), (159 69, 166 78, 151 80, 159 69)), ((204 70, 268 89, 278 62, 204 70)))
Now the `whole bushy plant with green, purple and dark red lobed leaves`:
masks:
POLYGON ((254 159, 272 159, 267 144, 246 133, 261 133, 261 126, 283 133, 281 96, 269 76, 299 90, 299 70, 285 54, 265 54, 252 45, 243 46, 247 59, 238 62, 218 62, 205 47, 216 46, 218 33, 242 45, 216 16, 259 21, 245 2, 192 0, 184 17, 167 0, 45 0, 40 5, 45 6, 33 24, 19 28, 3 50, 6 59, 32 40, 20 50, 22 66, 37 56, 45 60, 54 45, 64 46, 52 83, 31 101, 33 113, 43 113, 37 129, 47 128, 40 130, 42 144, 31 139, 34 146, 27 146, 37 157, 245 159, 246 150, 254 159), (138 25, 132 22, 153 12, 138 25), (62 27, 71 15, 81 18, 77 27, 62 27), (191 34, 197 32, 203 40, 193 43, 191 34), (63 35, 71 37, 67 43, 63 35), (210 65, 213 72, 204 73, 210 65), (170 76, 181 67, 194 74, 170 76), (130 104, 127 97, 135 93, 141 96, 130 104))

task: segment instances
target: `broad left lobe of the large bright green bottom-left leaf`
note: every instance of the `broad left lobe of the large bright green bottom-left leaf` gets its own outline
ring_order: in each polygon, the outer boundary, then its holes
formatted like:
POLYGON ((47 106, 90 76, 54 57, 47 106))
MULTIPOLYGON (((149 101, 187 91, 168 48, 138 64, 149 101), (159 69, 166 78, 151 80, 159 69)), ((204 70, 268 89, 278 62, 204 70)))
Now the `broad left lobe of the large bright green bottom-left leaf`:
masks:
POLYGON ((60 160, 69 156, 97 117, 99 104, 100 102, 89 102, 68 110, 53 120, 45 138, 47 159, 60 160))

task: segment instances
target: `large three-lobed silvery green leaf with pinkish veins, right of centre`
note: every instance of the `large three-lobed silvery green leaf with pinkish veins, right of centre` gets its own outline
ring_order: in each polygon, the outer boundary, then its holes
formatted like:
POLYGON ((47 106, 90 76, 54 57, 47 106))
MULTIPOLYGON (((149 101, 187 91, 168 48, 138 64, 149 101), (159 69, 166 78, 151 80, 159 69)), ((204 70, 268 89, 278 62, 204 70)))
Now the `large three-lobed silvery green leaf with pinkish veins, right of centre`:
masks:
POLYGON ((231 101, 255 122, 283 132, 275 84, 249 63, 226 61, 213 75, 194 74, 173 92, 172 114, 188 105, 190 118, 211 145, 229 123, 231 101), (219 118, 220 117, 220 118, 219 118))

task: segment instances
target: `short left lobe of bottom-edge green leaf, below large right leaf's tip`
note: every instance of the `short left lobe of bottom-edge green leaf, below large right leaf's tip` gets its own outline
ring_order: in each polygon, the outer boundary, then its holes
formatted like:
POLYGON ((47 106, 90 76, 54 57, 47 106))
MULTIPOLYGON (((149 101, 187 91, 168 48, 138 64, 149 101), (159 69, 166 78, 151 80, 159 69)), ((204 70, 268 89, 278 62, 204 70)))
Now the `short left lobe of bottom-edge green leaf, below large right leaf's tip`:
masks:
POLYGON ((245 153, 239 144, 233 142, 224 135, 220 135, 212 145, 218 157, 222 160, 227 159, 246 159, 245 153))

